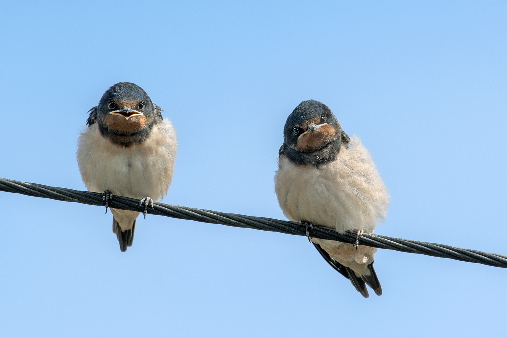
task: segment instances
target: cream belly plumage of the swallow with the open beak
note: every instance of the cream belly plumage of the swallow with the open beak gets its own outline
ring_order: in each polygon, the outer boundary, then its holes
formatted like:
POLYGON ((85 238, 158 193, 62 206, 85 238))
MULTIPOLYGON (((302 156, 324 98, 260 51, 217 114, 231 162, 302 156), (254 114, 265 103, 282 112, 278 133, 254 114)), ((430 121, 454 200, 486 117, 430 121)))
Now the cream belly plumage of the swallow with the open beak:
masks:
MULTIPOLYGON (((78 139, 78 165, 87 189, 113 195, 161 200, 171 184, 176 132, 168 119, 153 126, 150 137, 128 147, 103 137, 92 124, 78 139)), ((132 228, 139 212, 111 208, 122 230, 132 228)))

